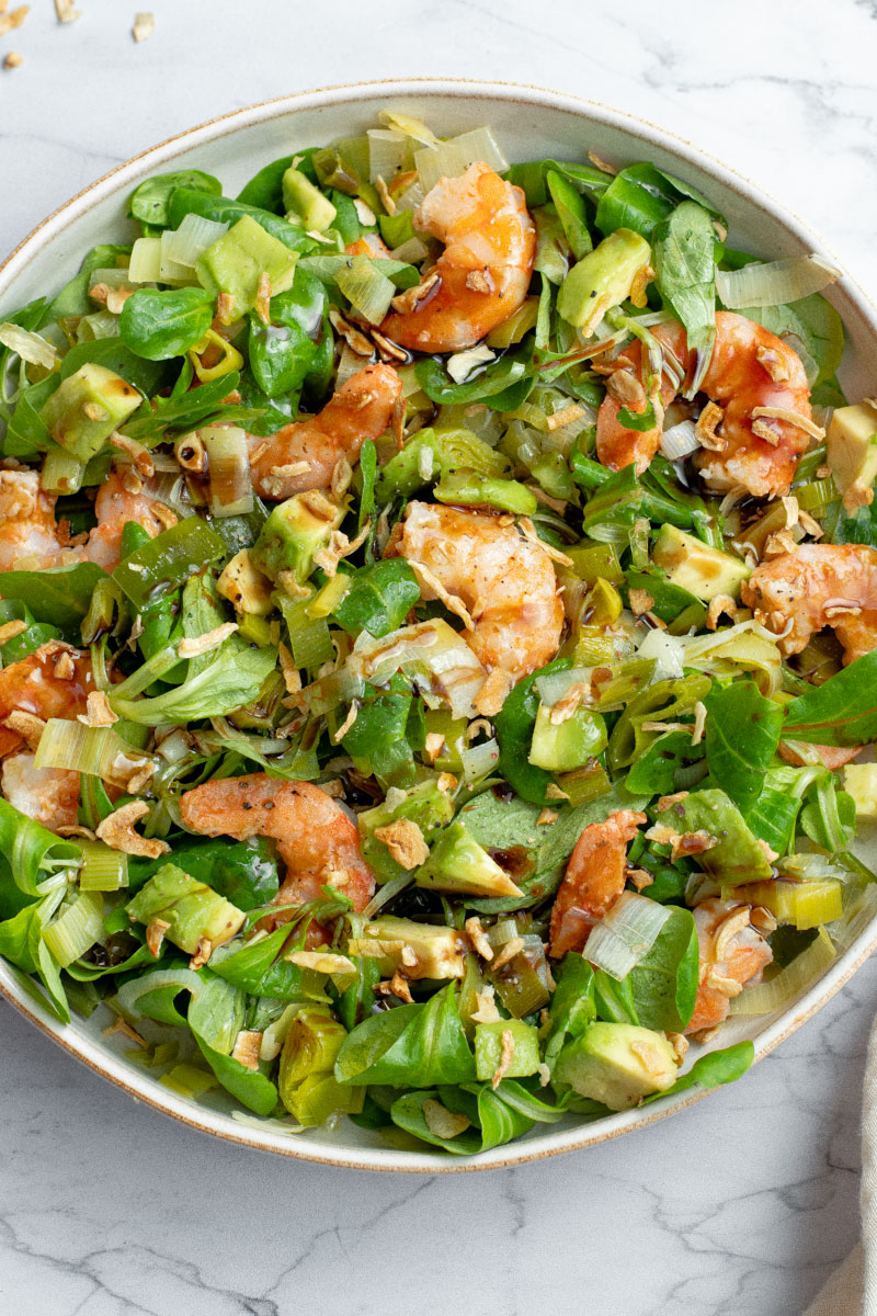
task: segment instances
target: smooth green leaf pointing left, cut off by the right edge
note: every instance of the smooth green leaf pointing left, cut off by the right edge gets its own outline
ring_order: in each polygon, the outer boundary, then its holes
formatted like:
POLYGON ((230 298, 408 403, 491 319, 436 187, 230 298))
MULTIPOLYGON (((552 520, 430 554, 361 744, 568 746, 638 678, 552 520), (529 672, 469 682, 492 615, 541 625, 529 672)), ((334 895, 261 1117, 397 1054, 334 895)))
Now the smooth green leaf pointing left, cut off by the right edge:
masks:
MULTIPOLYGON (((33 609, 32 609, 33 611, 33 609)), ((877 650, 786 704, 786 740, 864 745, 877 736, 877 650)))

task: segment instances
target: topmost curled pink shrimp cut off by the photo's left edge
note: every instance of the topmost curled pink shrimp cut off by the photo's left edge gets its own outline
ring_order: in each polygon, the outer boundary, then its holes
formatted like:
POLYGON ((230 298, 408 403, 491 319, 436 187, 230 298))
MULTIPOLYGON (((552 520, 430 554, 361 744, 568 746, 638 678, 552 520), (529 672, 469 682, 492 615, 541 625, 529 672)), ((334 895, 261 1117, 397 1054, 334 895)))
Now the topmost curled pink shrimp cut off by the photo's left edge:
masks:
POLYGON ((70 562, 96 562, 112 571, 118 566, 126 521, 137 521, 153 537, 176 524, 163 503, 129 492, 126 478, 110 472, 95 501, 97 525, 85 544, 71 546, 66 522, 55 521, 57 497, 41 487, 38 471, 0 471, 0 571, 11 571, 22 559, 32 571, 70 562))

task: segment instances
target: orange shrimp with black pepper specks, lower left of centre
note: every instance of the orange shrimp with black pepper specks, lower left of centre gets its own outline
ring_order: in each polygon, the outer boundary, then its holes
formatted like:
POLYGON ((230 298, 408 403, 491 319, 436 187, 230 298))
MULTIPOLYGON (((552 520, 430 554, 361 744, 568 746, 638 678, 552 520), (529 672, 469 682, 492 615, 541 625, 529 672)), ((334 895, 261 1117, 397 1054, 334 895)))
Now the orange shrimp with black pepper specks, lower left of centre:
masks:
POLYGON ((298 905, 333 886, 356 911, 375 892, 375 875, 359 850, 359 832, 330 795, 309 782, 251 772, 205 782, 180 799, 183 826, 204 836, 272 837, 287 875, 273 904, 298 905))

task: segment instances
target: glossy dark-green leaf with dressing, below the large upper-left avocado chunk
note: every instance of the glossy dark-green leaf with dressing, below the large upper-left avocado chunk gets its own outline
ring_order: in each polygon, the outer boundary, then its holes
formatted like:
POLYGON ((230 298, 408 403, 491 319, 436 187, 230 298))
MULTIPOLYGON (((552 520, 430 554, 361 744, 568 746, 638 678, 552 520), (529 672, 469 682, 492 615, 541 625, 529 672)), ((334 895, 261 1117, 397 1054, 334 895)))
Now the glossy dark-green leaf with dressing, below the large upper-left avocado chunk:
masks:
POLYGON ((296 267, 292 288, 271 299, 271 322, 250 316, 250 370, 268 397, 301 388, 317 353, 326 305, 320 279, 296 267))

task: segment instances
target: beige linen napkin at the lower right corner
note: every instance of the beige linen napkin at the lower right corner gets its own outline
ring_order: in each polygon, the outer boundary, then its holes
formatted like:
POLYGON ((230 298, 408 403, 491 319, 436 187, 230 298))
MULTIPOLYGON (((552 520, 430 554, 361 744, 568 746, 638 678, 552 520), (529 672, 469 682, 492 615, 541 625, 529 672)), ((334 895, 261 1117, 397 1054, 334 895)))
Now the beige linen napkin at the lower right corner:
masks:
POLYGON ((805 1316, 877 1316, 877 1024, 865 1062, 861 1112, 861 1237, 805 1316))

